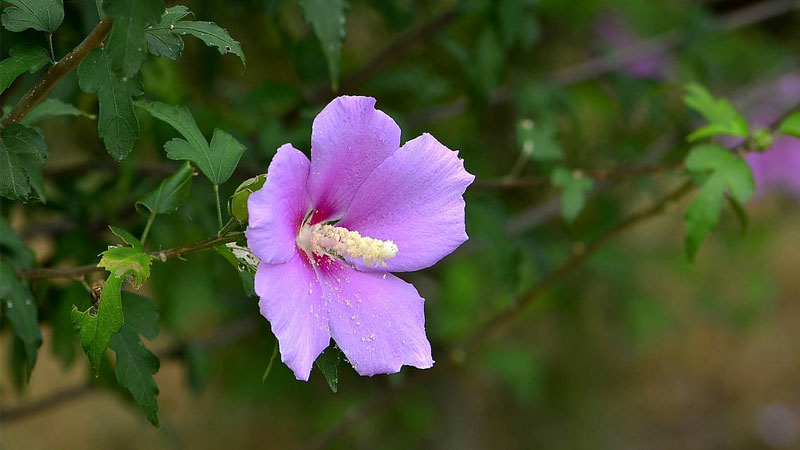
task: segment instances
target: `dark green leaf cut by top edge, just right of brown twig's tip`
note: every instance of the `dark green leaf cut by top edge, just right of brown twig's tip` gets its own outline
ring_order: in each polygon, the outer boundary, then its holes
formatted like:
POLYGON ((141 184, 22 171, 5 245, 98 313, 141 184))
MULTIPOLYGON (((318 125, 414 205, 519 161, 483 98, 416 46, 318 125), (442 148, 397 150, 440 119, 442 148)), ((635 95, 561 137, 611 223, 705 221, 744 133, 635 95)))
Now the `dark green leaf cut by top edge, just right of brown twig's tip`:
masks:
POLYGON ((105 0, 103 11, 114 26, 106 43, 111 67, 119 76, 132 77, 147 57, 145 28, 158 22, 164 11, 162 0, 105 0))

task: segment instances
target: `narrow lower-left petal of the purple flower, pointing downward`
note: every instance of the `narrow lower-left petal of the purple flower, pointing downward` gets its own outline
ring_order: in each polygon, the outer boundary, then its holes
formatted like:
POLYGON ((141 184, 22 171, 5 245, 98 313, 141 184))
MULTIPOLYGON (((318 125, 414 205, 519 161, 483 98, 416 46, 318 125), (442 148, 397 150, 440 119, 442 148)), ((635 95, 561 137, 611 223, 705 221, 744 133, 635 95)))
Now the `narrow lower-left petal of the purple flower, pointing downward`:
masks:
POLYGON ((323 292, 314 269, 298 252, 283 264, 258 266, 258 306, 278 338, 281 361, 308 381, 314 360, 331 340, 323 292))

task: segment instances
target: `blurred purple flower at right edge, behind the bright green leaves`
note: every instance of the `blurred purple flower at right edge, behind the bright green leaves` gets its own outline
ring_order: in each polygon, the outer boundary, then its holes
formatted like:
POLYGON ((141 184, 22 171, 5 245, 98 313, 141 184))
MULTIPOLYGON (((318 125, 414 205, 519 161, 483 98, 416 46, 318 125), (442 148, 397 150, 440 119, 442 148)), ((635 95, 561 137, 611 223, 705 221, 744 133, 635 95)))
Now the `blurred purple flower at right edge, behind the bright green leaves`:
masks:
MULTIPOLYGON (((755 127, 774 123, 800 103, 800 73, 791 73, 770 84, 768 92, 753 95, 743 110, 755 127)), ((780 136, 763 153, 748 153, 745 160, 753 171, 756 196, 783 192, 800 201, 800 140, 780 136)))

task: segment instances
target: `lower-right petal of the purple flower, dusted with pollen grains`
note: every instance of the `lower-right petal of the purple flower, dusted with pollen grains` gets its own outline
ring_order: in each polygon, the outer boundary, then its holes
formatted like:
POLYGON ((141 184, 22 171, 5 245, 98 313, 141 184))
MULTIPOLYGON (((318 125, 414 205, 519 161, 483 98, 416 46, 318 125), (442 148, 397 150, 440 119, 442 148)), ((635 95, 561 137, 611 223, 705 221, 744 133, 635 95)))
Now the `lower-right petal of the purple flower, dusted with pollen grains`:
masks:
POLYGON ((425 300, 391 274, 353 270, 327 260, 318 270, 331 336, 361 375, 433 366, 425 337, 425 300))

